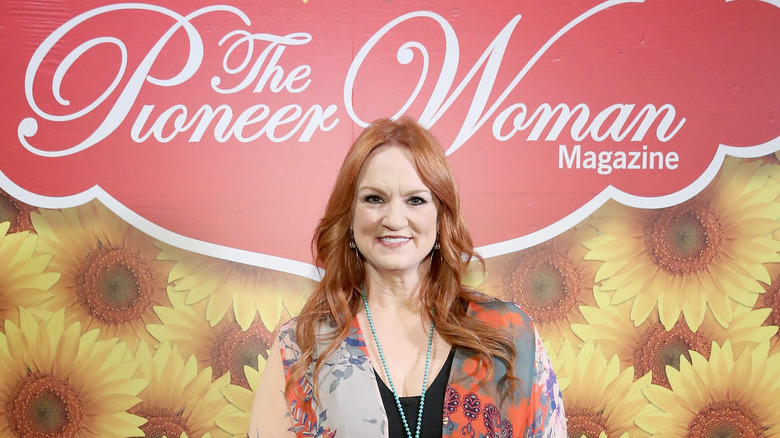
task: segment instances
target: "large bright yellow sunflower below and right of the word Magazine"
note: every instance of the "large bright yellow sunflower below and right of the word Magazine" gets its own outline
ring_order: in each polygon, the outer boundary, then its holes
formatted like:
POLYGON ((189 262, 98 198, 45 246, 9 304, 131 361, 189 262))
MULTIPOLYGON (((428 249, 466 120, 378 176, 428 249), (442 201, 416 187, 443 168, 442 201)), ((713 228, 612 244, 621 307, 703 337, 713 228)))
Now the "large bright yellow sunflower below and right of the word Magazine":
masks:
POLYGON ((586 257, 604 261, 595 281, 615 291, 613 303, 633 298, 635 325, 657 308, 666 330, 682 313, 695 332, 709 309, 728 327, 731 302, 752 307, 764 291, 759 281, 769 282, 763 263, 780 261, 780 242, 768 237, 780 226, 780 184, 767 184, 772 167, 729 158, 709 187, 680 205, 605 204, 589 221, 601 235, 585 242, 586 257))

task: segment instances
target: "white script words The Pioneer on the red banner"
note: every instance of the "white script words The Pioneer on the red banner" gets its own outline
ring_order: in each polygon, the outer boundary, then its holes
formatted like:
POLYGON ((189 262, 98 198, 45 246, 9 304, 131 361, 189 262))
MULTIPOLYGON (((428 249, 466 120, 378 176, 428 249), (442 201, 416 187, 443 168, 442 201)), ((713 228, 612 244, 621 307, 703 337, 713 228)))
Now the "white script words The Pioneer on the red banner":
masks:
MULTIPOLYGON (((128 49, 119 38, 99 37, 88 40, 67 54, 57 67, 52 80, 52 92, 55 100, 66 110, 70 102, 60 96, 60 86, 68 69, 78 58, 90 49, 103 44, 109 44, 119 49, 121 62, 112 83, 102 94, 84 108, 65 115, 55 115, 44 111, 35 101, 33 84, 41 67, 43 59, 52 51, 55 45, 69 32, 80 25, 86 25, 90 19, 102 14, 118 13, 129 10, 149 11, 168 16, 174 23, 165 30, 153 47, 143 56, 139 65, 129 73, 124 88, 119 91, 116 101, 107 110, 105 117, 99 121, 97 128, 88 133, 80 143, 60 148, 46 150, 34 146, 29 140, 38 132, 38 120, 28 117, 19 124, 17 133, 19 141, 30 152, 44 157, 63 157, 83 151, 99 143, 122 125, 131 110, 138 102, 142 88, 149 84, 159 87, 175 87, 186 83, 201 67, 204 59, 204 43, 198 30, 191 21, 201 15, 213 12, 227 12, 238 16, 246 25, 249 18, 239 9, 231 6, 211 6, 199 9, 187 16, 179 15, 169 9, 145 4, 119 4, 93 9, 81 14, 58 28, 49 35, 35 51, 27 68, 25 76, 25 94, 30 108, 41 119, 63 123, 86 116, 98 107, 107 105, 108 97, 117 91, 118 84, 125 79, 128 71, 128 49), (160 57, 160 53, 177 32, 183 30, 187 36, 189 50, 185 56, 185 65, 169 78, 157 78, 150 71, 160 57)), ((311 79, 311 67, 306 64, 297 65, 289 71, 280 65, 280 60, 289 46, 300 46, 311 41, 307 33, 292 33, 289 35, 271 35, 264 33, 252 34, 245 30, 228 32, 219 42, 225 47, 222 60, 222 70, 225 77, 215 75, 211 79, 211 88, 216 95, 233 94, 250 86, 252 93, 261 94, 286 92, 296 94, 304 91, 311 79), (261 48, 261 44, 265 44, 261 48), (239 77, 237 84, 226 86, 227 76, 239 77)), ((165 60, 163 60, 165 61, 165 60)), ((265 104, 256 104, 243 111, 236 111, 227 104, 212 106, 203 104, 192 110, 183 104, 174 104, 168 108, 157 109, 153 103, 144 103, 135 122, 130 129, 130 137, 135 142, 143 142, 154 137, 160 143, 172 141, 178 134, 189 132, 189 142, 201 141, 211 129, 213 138, 218 142, 226 142, 231 138, 239 142, 250 142, 265 136, 268 140, 279 143, 297 135, 297 141, 307 142, 316 131, 330 131, 338 123, 334 117, 335 104, 312 104, 308 108, 292 103, 272 109, 265 104), (155 114, 156 111, 156 116, 155 114), (234 118, 234 112, 237 116, 234 118)))

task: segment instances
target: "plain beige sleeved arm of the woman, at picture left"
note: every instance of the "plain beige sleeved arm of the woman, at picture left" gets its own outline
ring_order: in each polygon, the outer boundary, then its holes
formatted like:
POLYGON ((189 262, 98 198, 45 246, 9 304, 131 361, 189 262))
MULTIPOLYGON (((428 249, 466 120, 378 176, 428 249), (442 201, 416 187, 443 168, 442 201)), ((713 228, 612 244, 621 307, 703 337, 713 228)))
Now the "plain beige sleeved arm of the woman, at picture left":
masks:
POLYGON ((274 342, 260 383, 255 391, 249 420, 250 438, 295 438, 292 419, 284 396, 284 367, 279 339, 274 342))

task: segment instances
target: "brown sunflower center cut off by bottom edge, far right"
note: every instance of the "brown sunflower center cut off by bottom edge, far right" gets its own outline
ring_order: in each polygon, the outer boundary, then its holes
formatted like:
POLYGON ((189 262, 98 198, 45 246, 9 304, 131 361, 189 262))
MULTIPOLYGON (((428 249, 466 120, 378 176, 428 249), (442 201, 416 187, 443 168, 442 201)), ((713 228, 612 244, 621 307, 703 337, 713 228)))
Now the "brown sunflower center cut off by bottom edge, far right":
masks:
POLYGON ((759 438, 765 429, 758 416, 732 400, 717 401, 699 411, 688 426, 689 438, 759 438))

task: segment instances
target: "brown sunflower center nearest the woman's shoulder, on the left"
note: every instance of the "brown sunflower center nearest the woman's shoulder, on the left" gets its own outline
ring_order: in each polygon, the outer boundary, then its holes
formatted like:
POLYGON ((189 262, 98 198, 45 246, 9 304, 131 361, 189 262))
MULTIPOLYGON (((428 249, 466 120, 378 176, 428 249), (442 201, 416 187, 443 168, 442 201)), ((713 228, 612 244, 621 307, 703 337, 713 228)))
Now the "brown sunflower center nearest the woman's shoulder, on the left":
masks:
POLYGON ((260 321, 255 321, 246 331, 238 324, 225 327, 218 335, 211 350, 211 366, 214 378, 230 371, 230 382, 251 389, 244 375, 244 366, 258 369, 257 355, 268 358, 266 353, 273 344, 273 334, 260 321))

